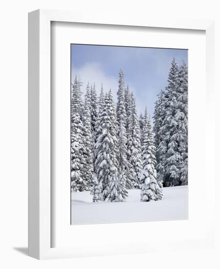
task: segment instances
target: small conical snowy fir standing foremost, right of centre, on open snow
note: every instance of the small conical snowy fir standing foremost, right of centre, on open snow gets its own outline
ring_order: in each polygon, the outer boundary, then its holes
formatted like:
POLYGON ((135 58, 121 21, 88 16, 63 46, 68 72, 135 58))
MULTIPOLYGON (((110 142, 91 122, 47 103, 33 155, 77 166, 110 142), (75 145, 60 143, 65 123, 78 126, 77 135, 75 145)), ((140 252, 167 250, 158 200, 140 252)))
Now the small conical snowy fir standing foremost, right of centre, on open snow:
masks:
POLYGON ((159 187, 156 180, 154 134, 150 118, 143 130, 142 156, 143 169, 140 177, 141 201, 160 200, 163 196, 163 190, 159 187))

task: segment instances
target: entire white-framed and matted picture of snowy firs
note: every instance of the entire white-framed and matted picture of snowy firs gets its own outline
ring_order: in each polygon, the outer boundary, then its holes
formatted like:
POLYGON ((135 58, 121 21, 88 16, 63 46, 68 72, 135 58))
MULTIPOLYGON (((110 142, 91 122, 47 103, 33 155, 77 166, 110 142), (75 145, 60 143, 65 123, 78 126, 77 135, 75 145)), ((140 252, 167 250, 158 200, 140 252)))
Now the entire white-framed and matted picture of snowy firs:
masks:
POLYGON ((29 13, 30 256, 212 246, 213 39, 213 21, 29 13))

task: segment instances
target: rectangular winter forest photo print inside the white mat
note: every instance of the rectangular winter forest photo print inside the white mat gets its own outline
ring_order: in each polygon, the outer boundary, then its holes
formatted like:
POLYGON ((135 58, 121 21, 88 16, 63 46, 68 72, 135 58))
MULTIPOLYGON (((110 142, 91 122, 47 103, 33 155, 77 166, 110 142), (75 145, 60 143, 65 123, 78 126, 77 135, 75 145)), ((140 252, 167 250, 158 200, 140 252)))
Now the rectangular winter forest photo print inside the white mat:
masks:
POLYGON ((70 49, 71 224, 188 219, 188 50, 70 49))

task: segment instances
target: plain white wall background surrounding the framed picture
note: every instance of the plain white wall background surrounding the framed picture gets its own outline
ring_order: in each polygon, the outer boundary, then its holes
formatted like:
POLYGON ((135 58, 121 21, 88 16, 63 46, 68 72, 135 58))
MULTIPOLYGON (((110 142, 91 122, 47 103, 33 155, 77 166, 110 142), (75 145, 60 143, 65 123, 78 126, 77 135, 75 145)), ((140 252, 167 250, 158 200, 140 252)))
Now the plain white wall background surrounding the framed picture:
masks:
MULTIPOLYGON (((220 100, 220 8, 218 0, 7 0, 0 3, 0 267, 13 268, 219 268, 220 249, 194 253, 147 253, 100 258, 38 261, 27 253, 27 13, 38 9, 117 9, 131 16, 216 20, 216 102, 220 100)), ((216 122, 220 122, 217 104, 216 122)), ((219 131, 219 130, 218 130, 219 131)), ((220 133, 216 135, 220 137, 220 133)), ((219 141, 216 139, 216 147, 219 141)), ((217 156, 216 152, 216 157, 217 156)), ((217 162, 217 167, 219 163, 217 162)), ((216 177, 216 194, 220 189, 216 177)), ((219 205, 219 197, 216 198, 219 205)), ((220 207, 216 208, 219 224, 220 207)), ((219 231, 217 232, 218 240, 219 231)), ((220 242, 220 240, 218 241, 220 242)), ((219 243, 217 244, 220 245, 219 243)))

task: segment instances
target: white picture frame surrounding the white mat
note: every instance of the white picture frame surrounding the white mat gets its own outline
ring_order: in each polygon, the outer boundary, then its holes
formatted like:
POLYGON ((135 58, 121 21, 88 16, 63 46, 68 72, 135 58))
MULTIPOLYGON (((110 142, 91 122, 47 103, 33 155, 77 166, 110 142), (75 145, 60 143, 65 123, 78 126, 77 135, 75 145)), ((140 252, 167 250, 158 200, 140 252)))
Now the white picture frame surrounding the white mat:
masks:
MULTIPOLYGON (((92 255, 125 254, 132 252, 146 252, 157 250, 156 242, 144 247, 132 247, 129 243, 102 249, 95 245, 85 249, 77 247, 52 247, 53 232, 51 232, 51 202, 53 202, 53 188, 51 185, 51 94, 50 94, 50 56, 51 56, 51 22, 80 22, 95 24, 127 25, 139 27, 175 28, 205 31, 206 40, 206 140, 213 141, 214 123, 208 120, 213 113, 214 92, 214 22, 211 20, 167 20, 152 18, 131 18, 111 14, 100 14, 93 18, 86 12, 80 14, 74 11, 37 10, 28 16, 28 132, 29 132, 29 172, 28 172, 28 254, 37 259, 67 258, 92 255), (95 247, 94 247, 95 246, 95 247)), ((214 145, 205 148, 205 154, 214 156, 214 145)), ((208 160, 207 160, 208 161, 208 160)), ((214 165, 211 160, 210 165, 214 165)), ((207 183, 207 182, 206 182, 207 183)), ((214 186, 214 169, 209 174, 209 184, 214 186)), ((214 204, 213 198, 209 205, 214 204)), ((211 246, 214 242, 214 211, 210 210, 209 221, 206 223, 205 237, 185 242, 161 242, 161 248, 167 250, 174 247, 195 248, 211 246)), ((99 224, 102 225, 102 224, 99 224)), ((108 225, 108 224, 105 224, 108 225)), ((142 224, 143 226, 144 224, 142 224)), ((87 243, 87 242, 84 242, 87 243)), ((90 243, 88 242, 88 245, 90 243)))

